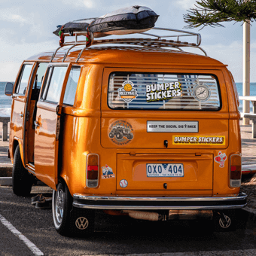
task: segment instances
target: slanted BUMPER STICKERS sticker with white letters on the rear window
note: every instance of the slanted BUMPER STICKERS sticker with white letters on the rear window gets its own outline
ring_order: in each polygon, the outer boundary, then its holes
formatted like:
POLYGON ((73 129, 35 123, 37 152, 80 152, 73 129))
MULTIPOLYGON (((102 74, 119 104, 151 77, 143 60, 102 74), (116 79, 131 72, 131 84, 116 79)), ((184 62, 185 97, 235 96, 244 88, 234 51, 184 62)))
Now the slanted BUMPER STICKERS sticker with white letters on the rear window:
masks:
POLYGON ((158 102, 182 96, 180 82, 146 85, 147 102, 158 102))

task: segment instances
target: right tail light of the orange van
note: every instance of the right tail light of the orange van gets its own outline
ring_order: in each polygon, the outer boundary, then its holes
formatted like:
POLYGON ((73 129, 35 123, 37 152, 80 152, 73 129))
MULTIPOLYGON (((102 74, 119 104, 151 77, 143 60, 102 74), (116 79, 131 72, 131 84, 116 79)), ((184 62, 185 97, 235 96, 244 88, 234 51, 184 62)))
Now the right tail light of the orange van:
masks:
POLYGON ((232 154, 230 156, 230 187, 241 186, 241 156, 232 154))

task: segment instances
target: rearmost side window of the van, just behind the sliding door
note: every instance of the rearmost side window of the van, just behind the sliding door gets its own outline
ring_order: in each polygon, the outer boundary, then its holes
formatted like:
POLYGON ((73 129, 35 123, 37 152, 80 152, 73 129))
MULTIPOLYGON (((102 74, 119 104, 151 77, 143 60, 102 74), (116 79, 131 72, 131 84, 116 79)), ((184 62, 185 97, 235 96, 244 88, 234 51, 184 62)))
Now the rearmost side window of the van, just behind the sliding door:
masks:
POLYGON ((80 76, 81 67, 74 66, 70 70, 69 80, 66 85, 66 91, 63 99, 63 104, 74 105, 75 102, 75 93, 78 87, 78 79, 80 76))

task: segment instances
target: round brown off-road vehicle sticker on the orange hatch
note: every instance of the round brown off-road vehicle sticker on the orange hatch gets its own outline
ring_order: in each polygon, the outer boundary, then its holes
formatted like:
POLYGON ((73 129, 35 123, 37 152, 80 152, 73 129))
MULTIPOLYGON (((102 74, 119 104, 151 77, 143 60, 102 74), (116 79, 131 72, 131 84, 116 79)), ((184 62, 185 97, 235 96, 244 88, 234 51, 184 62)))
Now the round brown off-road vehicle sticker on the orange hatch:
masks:
POLYGON ((133 126, 126 120, 116 120, 108 130, 108 137, 116 145, 126 145, 133 139, 133 126))

